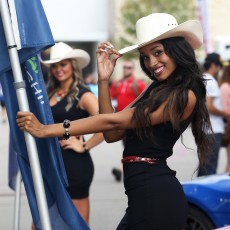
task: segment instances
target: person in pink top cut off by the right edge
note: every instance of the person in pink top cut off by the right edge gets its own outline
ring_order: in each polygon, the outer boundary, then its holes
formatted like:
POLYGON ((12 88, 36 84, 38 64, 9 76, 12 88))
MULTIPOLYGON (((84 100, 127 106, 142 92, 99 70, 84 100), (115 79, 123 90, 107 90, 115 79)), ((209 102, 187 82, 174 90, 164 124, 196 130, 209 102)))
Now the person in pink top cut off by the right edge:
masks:
MULTIPOLYGON (((220 78, 220 91, 221 91, 221 101, 223 110, 227 113, 230 113, 230 60, 227 62, 227 65, 224 66, 223 74, 220 78)), ((225 172, 230 172, 230 123, 225 123, 225 134, 226 140, 223 137, 222 143, 226 147, 227 151, 227 164, 225 167, 225 172)))

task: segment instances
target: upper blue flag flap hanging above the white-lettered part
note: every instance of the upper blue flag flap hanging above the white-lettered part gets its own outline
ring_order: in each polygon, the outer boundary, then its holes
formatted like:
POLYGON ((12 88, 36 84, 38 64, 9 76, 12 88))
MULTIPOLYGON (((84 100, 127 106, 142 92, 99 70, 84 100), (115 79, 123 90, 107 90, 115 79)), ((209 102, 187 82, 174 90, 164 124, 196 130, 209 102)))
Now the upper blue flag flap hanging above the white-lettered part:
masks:
MULTIPOLYGON (((11 0, 13 1, 13 0, 11 0)), ((53 36, 49 28, 46 15, 40 0, 13 1, 15 7, 11 9, 11 15, 17 16, 21 50, 18 54, 23 63, 32 55, 54 44, 53 36)), ((0 75, 11 69, 10 59, 5 40, 2 21, 0 20, 0 75), (7 53, 7 55, 6 55, 7 53)))

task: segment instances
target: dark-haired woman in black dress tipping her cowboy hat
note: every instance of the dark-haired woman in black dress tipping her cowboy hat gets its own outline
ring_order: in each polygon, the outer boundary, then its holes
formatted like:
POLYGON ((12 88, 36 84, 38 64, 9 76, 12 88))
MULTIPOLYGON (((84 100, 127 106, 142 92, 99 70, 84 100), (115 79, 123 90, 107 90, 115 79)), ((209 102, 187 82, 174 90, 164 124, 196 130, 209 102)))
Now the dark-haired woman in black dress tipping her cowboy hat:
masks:
MULTIPOLYGON (((166 160, 189 124, 201 164, 208 152, 211 126, 194 53, 202 44, 202 29, 198 21, 178 25, 172 15, 154 13, 137 21, 136 32, 138 44, 132 47, 116 51, 109 42, 98 47, 101 114, 71 122, 65 135, 103 132, 107 142, 126 138, 122 162, 128 208, 118 230, 179 230, 185 226, 187 202, 166 160), (131 51, 139 51, 140 65, 153 82, 132 105, 114 113, 108 81, 117 59, 131 51)), ((20 129, 34 136, 63 135, 63 124, 44 126, 26 112, 18 117, 20 129)))

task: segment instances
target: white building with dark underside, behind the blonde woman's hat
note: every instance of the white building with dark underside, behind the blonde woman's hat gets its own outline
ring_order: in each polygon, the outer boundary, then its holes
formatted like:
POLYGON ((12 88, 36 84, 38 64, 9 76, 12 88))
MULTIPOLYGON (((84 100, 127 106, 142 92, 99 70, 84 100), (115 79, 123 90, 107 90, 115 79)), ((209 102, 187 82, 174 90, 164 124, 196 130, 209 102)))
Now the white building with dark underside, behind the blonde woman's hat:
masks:
POLYGON ((55 42, 86 50, 92 60, 83 73, 96 71, 98 43, 111 40, 114 32, 114 0, 41 0, 55 42))

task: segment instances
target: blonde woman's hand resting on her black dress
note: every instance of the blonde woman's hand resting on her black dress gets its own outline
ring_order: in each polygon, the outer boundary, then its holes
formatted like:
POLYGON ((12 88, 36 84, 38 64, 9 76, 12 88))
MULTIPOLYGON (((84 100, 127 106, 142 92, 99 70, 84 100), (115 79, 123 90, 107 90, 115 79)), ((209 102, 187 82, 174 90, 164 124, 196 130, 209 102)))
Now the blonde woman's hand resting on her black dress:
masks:
POLYGON ((68 140, 61 140, 59 143, 63 149, 72 149, 77 153, 85 152, 82 136, 80 136, 79 139, 77 137, 71 136, 68 140))

